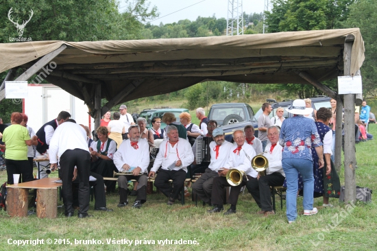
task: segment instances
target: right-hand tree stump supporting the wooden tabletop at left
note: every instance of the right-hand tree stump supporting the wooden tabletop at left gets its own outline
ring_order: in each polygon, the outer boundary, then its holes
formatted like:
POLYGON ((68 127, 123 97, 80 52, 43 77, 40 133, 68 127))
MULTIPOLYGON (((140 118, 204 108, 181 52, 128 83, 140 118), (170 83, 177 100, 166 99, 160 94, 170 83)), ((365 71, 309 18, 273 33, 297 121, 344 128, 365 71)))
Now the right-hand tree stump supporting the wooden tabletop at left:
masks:
POLYGON ((54 219, 58 213, 58 189, 38 189, 36 217, 54 219))

